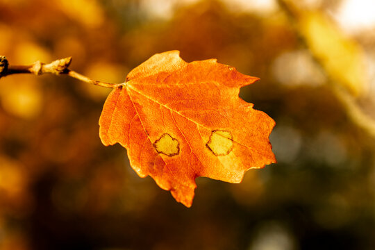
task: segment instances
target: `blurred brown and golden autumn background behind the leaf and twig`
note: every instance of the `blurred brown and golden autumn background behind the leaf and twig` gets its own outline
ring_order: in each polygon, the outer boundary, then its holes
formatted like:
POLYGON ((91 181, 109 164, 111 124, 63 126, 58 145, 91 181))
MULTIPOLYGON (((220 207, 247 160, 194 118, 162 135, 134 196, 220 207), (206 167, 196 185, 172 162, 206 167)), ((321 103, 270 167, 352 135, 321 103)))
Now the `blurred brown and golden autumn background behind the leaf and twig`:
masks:
POLYGON ((122 83, 154 53, 261 78, 240 96, 276 120, 278 163, 197 178, 192 208, 99 140, 110 90, 0 79, 0 249, 375 249, 372 0, 0 0, 12 65, 73 57, 122 83))

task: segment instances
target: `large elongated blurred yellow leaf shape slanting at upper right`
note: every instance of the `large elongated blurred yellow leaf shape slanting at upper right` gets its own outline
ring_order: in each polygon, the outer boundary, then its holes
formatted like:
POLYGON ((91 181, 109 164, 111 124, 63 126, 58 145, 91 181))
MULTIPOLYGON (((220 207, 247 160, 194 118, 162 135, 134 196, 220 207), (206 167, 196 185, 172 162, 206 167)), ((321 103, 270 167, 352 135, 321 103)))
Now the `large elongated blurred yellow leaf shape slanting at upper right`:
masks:
POLYGON ((300 12, 299 28, 326 72, 353 95, 367 89, 362 49, 321 12, 300 12))

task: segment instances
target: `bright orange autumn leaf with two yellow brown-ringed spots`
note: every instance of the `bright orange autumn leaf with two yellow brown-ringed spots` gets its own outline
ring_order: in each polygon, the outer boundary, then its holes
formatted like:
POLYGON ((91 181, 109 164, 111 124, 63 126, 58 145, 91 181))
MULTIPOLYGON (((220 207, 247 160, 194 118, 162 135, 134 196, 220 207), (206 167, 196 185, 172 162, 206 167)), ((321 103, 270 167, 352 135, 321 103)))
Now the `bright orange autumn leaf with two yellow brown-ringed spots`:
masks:
POLYGON ((238 97, 255 81, 215 59, 156 54, 108 96, 101 141, 121 144, 139 176, 190 207, 198 176, 240 183, 248 169, 276 162, 268 139, 274 120, 238 97))

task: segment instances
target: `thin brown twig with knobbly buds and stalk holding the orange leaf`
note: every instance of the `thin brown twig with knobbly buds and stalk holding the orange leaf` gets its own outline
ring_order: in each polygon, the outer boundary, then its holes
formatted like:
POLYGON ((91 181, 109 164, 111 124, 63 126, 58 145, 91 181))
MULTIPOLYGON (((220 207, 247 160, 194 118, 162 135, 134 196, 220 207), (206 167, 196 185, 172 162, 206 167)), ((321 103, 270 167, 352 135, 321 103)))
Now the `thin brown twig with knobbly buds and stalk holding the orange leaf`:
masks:
POLYGON ((102 81, 92 80, 87 76, 83 76, 82 74, 68 69, 70 63, 72 63, 72 57, 58 59, 48 64, 40 63, 40 61, 37 61, 32 65, 8 65, 8 60, 6 59, 6 57, 0 56, 0 78, 3 76, 9 76, 11 74, 35 74, 37 76, 40 76, 42 74, 65 74, 72 78, 76 78, 79 81, 101 86, 104 88, 117 88, 121 85, 124 85, 124 83, 105 83, 102 81))

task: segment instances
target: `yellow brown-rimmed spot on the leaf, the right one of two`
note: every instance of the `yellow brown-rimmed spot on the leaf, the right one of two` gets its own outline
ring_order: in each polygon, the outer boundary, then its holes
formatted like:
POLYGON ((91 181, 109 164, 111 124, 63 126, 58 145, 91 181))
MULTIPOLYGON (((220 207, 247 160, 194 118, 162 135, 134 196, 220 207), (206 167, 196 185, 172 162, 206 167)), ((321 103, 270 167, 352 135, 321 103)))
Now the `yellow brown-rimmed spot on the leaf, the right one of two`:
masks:
POLYGON ((233 136, 229 131, 215 130, 211 133, 206 146, 215 156, 226 156, 233 149, 233 136))

